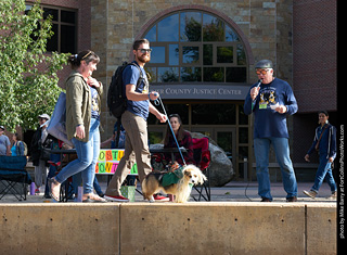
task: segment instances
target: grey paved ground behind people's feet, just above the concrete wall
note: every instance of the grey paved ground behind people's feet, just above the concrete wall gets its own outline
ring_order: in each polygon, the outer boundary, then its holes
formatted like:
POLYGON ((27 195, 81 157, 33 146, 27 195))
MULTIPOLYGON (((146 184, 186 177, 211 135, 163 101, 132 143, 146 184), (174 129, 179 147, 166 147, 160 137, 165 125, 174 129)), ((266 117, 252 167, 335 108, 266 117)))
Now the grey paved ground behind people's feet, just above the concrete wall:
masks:
MULTIPOLYGON (((101 182, 101 188, 104 191, 106 189, 106 182, 101 182)), ((327 200, 326 197, 331 195, 329 186, 324 182, 317 199, 312 200, 303 193, 303 190, 309 190, 313 183, 298 182, 298 202, 331 202, 336 203, 336 201, 327 200)), ((138 186, 138 189, 141 188, 138 186)), ((231 181, 221 188, 211 188, 211 201, 213 202, 259 202, 258 196, 258 184, 257 182, 236 182, 231 181)), ((271 193, 273 196, 273 202, 285 202, 286 193, 283 190, 282 182, 271 183, 271 193)), ((197 194, 193 190, 192 194, 197 194)), ((17 201, 13 195, 5 195, 0 203, 53 203, 55 201, 43 199, 43 194, 40 195, 27 195, 26 201, 17 201)), ((143 197, 137 192, 136 202, 143 202, 143 197)), ((190 202, 194 202, 191 197, 190 202)))

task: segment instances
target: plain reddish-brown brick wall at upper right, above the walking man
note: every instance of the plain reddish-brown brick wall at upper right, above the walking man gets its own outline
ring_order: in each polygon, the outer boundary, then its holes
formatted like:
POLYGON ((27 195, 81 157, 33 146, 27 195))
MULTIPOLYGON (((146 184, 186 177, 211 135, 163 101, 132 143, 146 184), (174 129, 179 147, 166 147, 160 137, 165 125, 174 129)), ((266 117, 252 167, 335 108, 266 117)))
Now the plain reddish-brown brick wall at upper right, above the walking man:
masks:
POLYGON ((299 113, 337 110, 336 2, 293 1, 293 74, 299 113))

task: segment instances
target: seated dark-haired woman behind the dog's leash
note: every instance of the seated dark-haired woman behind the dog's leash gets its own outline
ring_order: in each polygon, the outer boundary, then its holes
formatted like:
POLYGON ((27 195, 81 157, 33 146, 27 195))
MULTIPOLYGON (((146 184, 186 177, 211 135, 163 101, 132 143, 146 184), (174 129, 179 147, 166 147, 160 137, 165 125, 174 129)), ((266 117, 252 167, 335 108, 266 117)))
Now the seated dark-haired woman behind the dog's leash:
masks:
MULTIPOLYGON (((179 146, 180 148, 183 146, 187 150, 187 152, 182 153, 185 164, 187 165, 194 164, 192 136, 189 131, 183 129, 180 115, 171 114, 169 116, 169 122, 171 124, 171 127, 175 132, 179 146)), ((167 126, 167 129, 166 129, 164 148, 177 148, 176 141, 174 139, 174 136, 169 126, 167 126)), ((171 153, 165 153, 164 160, 166 161, 166 163, 171 162, 171 153)), ((178 164, 183 165, 183 161, 179 152, 175 153, 175 160, 178 162, 178 164)))

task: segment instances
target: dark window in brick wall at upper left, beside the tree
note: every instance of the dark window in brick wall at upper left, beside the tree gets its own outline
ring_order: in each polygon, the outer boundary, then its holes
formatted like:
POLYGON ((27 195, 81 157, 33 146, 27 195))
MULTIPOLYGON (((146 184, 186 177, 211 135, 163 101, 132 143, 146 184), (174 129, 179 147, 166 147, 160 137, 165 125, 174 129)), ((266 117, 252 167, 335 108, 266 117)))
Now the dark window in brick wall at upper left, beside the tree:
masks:
MULTIPOLYGON (((26 12, 31 5, 26 5, 26 12)), ((54 35, 47 41, 47 51, 62 53, 76 52, 77 12, 74 10, 47 8, 43 9, 43 18, 52 18, 52 31, 54 35)))

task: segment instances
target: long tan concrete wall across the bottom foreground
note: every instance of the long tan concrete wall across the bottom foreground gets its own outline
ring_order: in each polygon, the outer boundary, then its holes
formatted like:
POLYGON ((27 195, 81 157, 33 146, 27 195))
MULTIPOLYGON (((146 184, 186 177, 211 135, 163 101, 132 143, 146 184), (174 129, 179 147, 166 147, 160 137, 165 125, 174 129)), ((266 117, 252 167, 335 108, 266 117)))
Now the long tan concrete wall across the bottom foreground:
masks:
POLYGON ((3 254, 336 254, 335 203, 0 204, 3 254))

